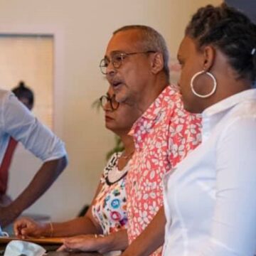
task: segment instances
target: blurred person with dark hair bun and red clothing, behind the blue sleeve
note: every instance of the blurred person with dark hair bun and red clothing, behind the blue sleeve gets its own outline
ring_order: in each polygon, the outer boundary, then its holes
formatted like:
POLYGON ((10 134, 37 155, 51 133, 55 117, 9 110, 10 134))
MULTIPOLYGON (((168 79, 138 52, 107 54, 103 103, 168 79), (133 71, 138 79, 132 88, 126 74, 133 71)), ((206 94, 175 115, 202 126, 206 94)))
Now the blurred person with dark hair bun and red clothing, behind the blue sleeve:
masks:
MULTIPOLYGON (((28 110, 32 110, 34 96, 33 91, 25 86, 24 82, 19 82, 17 87, 12 90, 14 95, 18 98, 20 102, 25 105, 28 110)), ((8 180, 9 180, 9 169, 11 166, 11 160, 14 156, 16 146, 18 142, 14 138, 9 139, 9 144, 7 146, 6 152, 4 154, 3 161, 0 166, 0 206, 8 206, 11 203, 11 197, 6 194, 8 180)))

